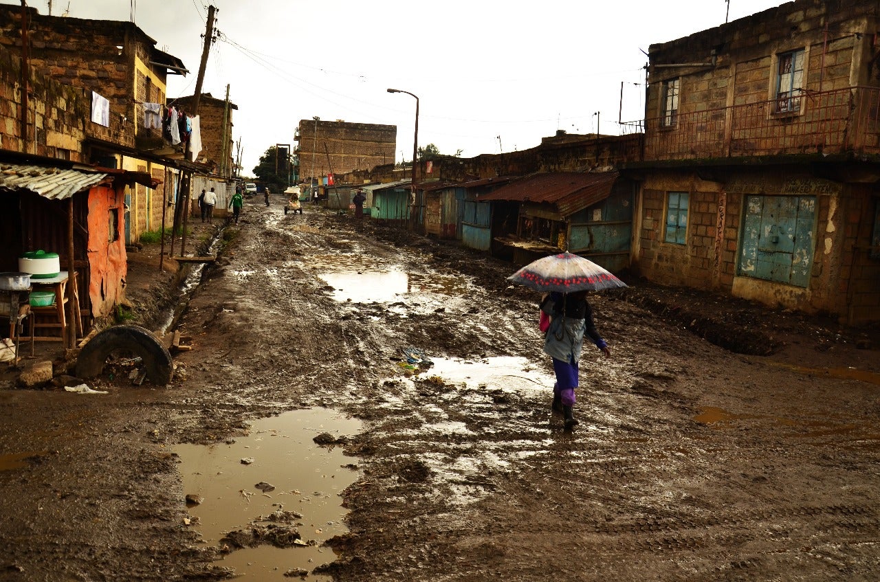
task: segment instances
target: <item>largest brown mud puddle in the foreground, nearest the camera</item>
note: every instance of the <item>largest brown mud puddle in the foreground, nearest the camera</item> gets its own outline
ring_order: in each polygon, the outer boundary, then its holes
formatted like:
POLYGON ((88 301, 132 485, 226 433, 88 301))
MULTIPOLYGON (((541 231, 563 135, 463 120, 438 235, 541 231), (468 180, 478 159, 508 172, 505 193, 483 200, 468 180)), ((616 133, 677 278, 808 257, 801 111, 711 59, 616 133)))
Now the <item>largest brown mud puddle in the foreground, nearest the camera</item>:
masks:
POLYGON ((175 447, 184 492, 202 501, 189 504, 193 527, 204 543, 231 550, 217 564, 244 579, 288 580, 285 572, 311 572, 334 561, 333 550, 321 544, 348 531, 340 493, 358 472, 341 447, 319 447, 313 439, 329 433, 338 440, 360 429, 355 419, 311 409, 262 418, 229 444, 175 447), (235 549, 242 540, 260 543, 235 549))

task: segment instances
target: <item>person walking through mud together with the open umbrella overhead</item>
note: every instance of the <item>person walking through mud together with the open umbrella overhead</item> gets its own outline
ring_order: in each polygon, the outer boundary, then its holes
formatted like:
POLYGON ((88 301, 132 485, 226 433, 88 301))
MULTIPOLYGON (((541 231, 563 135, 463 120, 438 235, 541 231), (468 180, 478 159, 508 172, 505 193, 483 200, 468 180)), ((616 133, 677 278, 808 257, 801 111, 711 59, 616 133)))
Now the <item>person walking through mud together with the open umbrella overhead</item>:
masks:
POLYGON ((562 412, 565 428, 571 430, 577 425, 575 389, 579 383, 577 362, 581 359, 583 336, 592 339, 605 357, 611 356, 611 349, 596 330, 587 292, 627 285, 596 263, 568 251, 539 258, 508 280, 546 294, 540 309, 550 320, 544 352, 553 359, 556 374, 553 411, 562 412))

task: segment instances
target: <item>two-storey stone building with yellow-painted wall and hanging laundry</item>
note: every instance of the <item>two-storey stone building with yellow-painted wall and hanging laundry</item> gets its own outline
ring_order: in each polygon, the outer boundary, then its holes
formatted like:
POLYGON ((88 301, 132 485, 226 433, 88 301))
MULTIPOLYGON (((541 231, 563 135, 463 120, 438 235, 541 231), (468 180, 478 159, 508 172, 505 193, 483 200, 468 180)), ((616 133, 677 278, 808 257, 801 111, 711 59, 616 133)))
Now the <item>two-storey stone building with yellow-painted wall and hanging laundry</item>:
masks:
MULTIPOLYGON (((53 113, 48 118, 45 112, 33 113, 34 142, 45 144, 47 152, 51 149, 58 157, 152 176, 156 187, 132 186, 125 193, 126 242, 159 229, 165 189, 169 196, 175 192, 180 162, 143 149, 138 142, 138 134, 144 132, 143 104, 164 104, 167 76, 185 74, 187 69, 130 22, 46 16, 33 8, 26 9, 26 18, 28 66, 34 75, 88 91, 92 99, 91 115, 82 120, 80 151, 73 151, 74 142, 48 131, 53 113), (99 121, 92 120, 96 104, 102 103, 106 113, 98 115, 99 121)), ((0 46, 21 55, 21 30, 21 7, 0 4, 0 46)))

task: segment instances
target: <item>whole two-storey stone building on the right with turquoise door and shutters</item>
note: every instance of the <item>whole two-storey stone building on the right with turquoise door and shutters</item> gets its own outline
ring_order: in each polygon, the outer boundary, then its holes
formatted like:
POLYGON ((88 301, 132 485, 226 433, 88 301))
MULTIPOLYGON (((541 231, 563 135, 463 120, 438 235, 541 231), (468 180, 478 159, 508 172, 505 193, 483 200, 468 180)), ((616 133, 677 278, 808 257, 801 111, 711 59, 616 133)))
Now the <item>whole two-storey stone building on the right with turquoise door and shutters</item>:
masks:
POLYGON ((880 320, 880 7, 796 0, 649 49, 632 266, 880 320))

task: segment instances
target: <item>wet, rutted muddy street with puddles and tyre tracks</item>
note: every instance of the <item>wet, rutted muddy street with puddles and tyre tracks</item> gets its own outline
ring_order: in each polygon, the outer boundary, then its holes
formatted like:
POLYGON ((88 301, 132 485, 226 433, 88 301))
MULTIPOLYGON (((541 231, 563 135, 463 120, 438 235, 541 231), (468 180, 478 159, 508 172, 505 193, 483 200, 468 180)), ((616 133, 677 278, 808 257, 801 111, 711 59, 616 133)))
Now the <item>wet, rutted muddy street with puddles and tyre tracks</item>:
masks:
POLYGON ((0 391, 0 579, 880 578, 861 331, 595 295, 566 432, 510 264, 311 206, 219 237, 171 385, 0 391))

